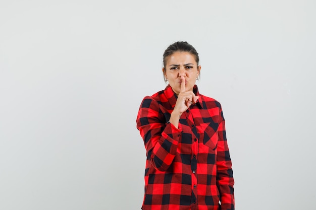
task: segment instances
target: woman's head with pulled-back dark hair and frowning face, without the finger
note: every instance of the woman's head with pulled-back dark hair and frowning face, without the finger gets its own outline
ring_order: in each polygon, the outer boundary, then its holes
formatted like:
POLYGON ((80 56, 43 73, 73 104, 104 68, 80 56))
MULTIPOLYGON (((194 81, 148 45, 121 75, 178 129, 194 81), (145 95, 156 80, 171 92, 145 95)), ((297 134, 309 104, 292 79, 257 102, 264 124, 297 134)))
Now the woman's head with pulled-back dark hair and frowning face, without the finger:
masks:
POLYGON ((175 42, 164 52, 164 79, 176 94, 180 92, 181 77, 185 78, 186 91, 191 91, 199 78, 201 66, 195 48, 188 42, 175 42))

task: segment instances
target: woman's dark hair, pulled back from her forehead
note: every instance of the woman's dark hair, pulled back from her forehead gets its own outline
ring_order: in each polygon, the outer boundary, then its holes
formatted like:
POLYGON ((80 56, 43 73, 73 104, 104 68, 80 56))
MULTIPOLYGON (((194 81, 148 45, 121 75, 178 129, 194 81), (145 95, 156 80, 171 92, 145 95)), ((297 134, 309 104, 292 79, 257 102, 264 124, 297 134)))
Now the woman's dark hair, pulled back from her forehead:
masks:
MULTIPOLYGON (((179 42, 175 42, 175 43, 169 45, 169 47, 164 52, 164 55, 163 55, 164 60, 163 60, 163 62, 164 62, 165 71, 166 71, 167 58, 170 55, 172 55, 173 53, 178 52, 178 51, 179 52, 189 52, 192 55, 194 55, 195 61, 196 61, 197 65, 198 65, 199 57, 198 57, 198 53, 197 53, 196 49, 191 44, 189 44, 188 42, 179 41, 179 42)), ((165 79, 165 82, 166 82, 165 74, 164 74, 164 79, 165 79)))

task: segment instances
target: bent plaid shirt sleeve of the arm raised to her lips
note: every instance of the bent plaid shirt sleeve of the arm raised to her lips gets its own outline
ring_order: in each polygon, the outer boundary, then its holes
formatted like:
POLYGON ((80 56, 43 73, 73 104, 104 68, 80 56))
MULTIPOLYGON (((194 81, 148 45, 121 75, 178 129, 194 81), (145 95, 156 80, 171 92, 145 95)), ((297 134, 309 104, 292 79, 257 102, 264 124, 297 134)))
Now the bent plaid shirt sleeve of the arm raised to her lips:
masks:
POLYGON ((157 101, 145 97, 136 124, 145 144, 147 159, 150 158, 152 166, 157 170, 166 171, 176 156, 182 128, 180 124, 178 129, 167 123, 161 108, 157 101))

